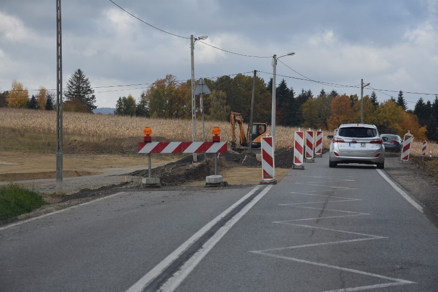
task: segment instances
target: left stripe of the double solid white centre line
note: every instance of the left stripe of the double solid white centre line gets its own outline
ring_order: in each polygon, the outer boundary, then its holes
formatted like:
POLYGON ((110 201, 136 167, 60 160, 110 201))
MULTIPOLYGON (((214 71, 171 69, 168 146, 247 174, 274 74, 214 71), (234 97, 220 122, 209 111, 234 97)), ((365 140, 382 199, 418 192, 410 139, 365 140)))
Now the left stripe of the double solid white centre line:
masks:
POLYGON ((192 235, 186 242, 182 243, 178 248, 171 252, 169 256, 163 259, 159 264, 152 268, 146 275, 141 277, 134 285, 132 285, 126 292, 140 292, 149 283, 151 283, 156 277, 158 277, 167 267, 170 266, 183 252, 185 252, 195 241, 200 237, 204 236, 205 233, 210 230, 217 222, 221 221, 225 216, 227 216, 235 207, 240 205, 243 201, 248 199, 255 191, 260 189, 262 186, 255 186, 250 192, 248 192, 239 201, 235 202, 231 207, 226 209, 212 221, 207 223, 204 227, 199 229, 194 235, 192 235))

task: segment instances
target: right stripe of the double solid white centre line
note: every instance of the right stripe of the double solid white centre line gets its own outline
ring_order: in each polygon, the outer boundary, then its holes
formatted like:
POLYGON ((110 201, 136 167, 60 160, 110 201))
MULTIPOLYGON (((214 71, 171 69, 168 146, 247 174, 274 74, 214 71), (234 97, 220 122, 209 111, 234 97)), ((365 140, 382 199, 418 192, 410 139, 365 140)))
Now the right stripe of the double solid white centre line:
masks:
POLYGON ((164 283, 159 291, 161 292, 173 292, 179 284, 190 274, 190 272, 196 267, 196 265, 208 254, 208 252, 216 245, 218 241, 231 229, 231 227, 238 222, 248 212, 252 206, 254 206, 260 199, 265 196, 272 186, 267 186, 262 192, 258 194, 249 204, 247 204, 239 213, 234 215, 224 226, 222 226, 217 232, 198 250, 196 253, 184 264, 182 267, 173 274, 169 280, 164 283))

